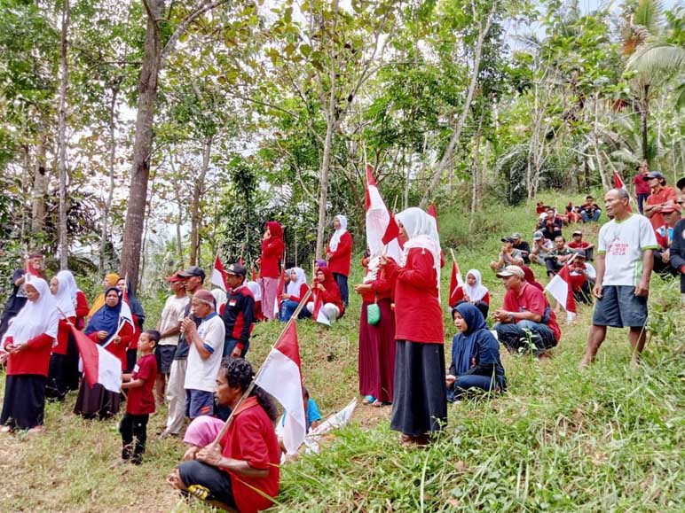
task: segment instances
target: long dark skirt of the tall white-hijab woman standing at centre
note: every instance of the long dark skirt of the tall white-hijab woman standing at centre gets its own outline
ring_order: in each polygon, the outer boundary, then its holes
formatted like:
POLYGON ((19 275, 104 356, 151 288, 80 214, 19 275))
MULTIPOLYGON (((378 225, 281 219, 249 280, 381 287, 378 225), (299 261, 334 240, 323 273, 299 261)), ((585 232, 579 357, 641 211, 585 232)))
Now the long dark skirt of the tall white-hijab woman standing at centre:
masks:
POLYGON ((420 436, 447 423, 445 346, 398 340, 390 428, 420 436))

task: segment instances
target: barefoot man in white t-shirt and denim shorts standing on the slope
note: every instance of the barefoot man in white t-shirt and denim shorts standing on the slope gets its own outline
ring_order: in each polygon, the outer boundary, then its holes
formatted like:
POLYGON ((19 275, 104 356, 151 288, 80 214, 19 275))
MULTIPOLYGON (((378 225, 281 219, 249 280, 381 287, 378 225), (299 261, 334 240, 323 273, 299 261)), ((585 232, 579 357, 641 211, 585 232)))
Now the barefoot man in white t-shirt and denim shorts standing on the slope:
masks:
POLYGON ((593 288, 597 300, 581 369, 594 361, 607 336, 607 326, 630 329, 628 340, 633 347, 633 366, 639 363, 644 348, 647 297, 653 253, 658 245, 650 220, 631 214, 628 201, 624 189, 612 189, 604 196, 607 215, 612 219, 599 233, 597 279, 593 288))

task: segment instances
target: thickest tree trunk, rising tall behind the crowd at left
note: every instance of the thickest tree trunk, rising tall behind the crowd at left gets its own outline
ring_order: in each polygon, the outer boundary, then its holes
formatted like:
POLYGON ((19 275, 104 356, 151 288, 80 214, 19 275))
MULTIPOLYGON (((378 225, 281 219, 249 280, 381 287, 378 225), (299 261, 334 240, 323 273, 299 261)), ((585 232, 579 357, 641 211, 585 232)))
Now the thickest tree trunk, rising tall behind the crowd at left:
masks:
POLYGON ((153 145, 154 104, 157 100, 157 77, 161 57, 161 35, 155 19, 161 18, 163 0, 150 0, 147 16, 145 57, 138 82, 138 114, 133 161, 130 170, 129 207, 122 243, 122 276, 129 276, 130 285, 138 288, 138 269, 145 226, 147 183, 150 178, 150 152, 153 145))

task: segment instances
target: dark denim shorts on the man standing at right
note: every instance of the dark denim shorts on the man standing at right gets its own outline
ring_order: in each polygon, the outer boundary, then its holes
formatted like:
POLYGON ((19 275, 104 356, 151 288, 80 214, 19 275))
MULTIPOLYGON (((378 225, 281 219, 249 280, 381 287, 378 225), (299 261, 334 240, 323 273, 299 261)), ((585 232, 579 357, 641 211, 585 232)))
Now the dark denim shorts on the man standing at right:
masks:
POLYGON ((642 328, 647 323, 647 298, 635 295, 630 285, 602 287, 602 299, 594 301, 592 323, 612 328, 642 328))

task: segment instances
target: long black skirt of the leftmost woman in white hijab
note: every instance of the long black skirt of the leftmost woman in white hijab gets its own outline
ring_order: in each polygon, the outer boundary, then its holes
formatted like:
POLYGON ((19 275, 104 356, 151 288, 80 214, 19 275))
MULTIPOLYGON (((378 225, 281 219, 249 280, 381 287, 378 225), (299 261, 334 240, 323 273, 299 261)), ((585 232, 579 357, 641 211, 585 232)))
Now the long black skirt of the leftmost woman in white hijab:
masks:
POLYGON ((46 381, 44 376, 36 374, 6 377, 0 424, 21 430, 43 425, 46 381))

